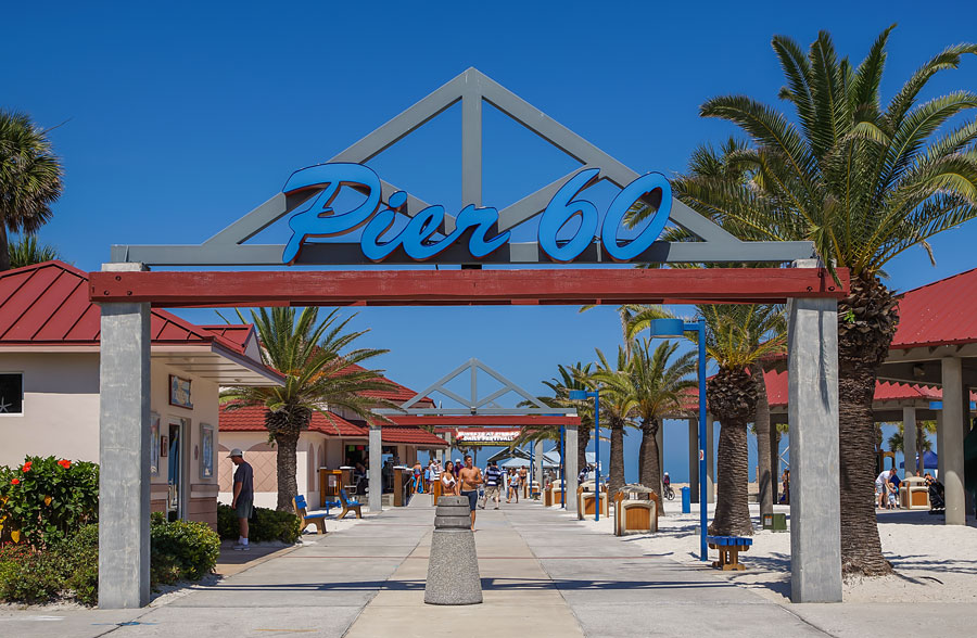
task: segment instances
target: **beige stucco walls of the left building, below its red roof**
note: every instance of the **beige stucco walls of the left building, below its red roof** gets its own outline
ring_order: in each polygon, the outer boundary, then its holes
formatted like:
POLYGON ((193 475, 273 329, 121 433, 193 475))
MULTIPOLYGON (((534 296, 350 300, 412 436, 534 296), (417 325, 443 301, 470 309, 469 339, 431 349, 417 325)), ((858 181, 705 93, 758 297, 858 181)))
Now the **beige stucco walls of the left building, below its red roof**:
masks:
MULTIPOLYGON (((24 413, 0 416, 0 464, 23 462, 26 455, 55 456, 72 460, 99 460, 99 355, 98 353, 3 353, 0 372, 24 374, 24 413)), ((219 439, 216 383, 193 378, 153 359, 151 410, 160 416, 160 428, 186 419, 183 434, 185 510, 191 520, 216 523, 217 475, 201 476, 201 424, 213 425, 219 439), (189 378, 193 409, 169 405, 169 374, 189 378)), ((153 443, 160 446, 160 441, 153 443)), ((161 457, 158 474, 152 476, 153 509, 165 503, 167 459, 161 457)))

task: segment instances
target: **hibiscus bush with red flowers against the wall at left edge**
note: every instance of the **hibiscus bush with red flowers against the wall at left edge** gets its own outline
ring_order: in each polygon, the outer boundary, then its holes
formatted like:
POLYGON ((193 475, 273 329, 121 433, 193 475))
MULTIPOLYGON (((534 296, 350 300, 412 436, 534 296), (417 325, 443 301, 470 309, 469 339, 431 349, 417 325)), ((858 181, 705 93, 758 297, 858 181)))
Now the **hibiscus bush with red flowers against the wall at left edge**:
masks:
POLYGON ((43 549, 98 520, 99 467, 55 457, 27 457, 0 467, 0 541, 43 549))

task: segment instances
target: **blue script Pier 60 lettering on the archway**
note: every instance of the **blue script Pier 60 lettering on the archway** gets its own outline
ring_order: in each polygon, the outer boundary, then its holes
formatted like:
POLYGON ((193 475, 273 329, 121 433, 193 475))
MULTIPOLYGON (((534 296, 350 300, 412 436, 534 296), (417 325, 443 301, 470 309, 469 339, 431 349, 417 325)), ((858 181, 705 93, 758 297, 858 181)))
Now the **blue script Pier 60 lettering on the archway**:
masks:
MULTIPOLYGON (((553 196, 540 218, 538 244, 554 261, 574 260, 594 242, 598 235, 599 215, 597 207, 578 195, 597 181, 598 168, 586 168, 570 178, 553 196), (560 230, 574 217, 580 217, 580 227, 572 238, 557 239, 560 230)), ((313 238, 339 237, 363 228, 359 247, 371 261, 383 261, 394 251, 402 248, 416 261, 436 259, 453 244, 462 239, 468 241, 468 253, 480 260, 504 246, 509 241, 509 231, 497 232, 498 210, 492 207, 465 206, 456 218, 455 229, 440 234, 445 219, 444 206, 434 205, 418 212, 406 227, 393 232, 398 213, 406 214, 407 193, 397 191, 381 202, 381 183, 377 174, 363 164, 331 163, 296 170, 289 178, 282 192, 293 195, 302 191, 320 191, 310 199, 302 210, 289 219, 292 237, 282 253, 284 264, 293 264, 307 240, 313 238), (343 188, 355 189, 366 199, 351 210, 337 210, 333 202, 343 188)), ((605 252, 617 261, 630 261, 647 251, 658 240, 669 220, 672 207, 672 189, 661 174, 649 173, 627 184, 611 202, 599 229, 605 252), (621 241, 622 228, 627 210, 643 196, 660 191, 661 204, 650 222, 637 237, 621 241)))

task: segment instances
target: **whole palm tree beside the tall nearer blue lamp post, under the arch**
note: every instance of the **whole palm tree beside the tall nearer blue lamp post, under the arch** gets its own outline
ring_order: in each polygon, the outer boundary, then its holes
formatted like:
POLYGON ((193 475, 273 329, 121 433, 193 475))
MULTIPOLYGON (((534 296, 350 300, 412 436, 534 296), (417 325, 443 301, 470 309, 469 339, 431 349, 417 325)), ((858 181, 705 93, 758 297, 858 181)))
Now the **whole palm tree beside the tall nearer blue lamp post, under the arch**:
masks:
MULTIPOLYGON (((767 305, 702 305, 698 310, 706 319, 706 352, 719 366, 707 381, 709 410, 720 422, 715 514, 710 532, 751 535, 747 425, 757 412, 757 381, 750 368, 783 350, 784 336, 776 330, 783 310, 767 305)), ((664 316, 669 316, 664 309, 649 307, 634 318, 631 332, 664 316)))

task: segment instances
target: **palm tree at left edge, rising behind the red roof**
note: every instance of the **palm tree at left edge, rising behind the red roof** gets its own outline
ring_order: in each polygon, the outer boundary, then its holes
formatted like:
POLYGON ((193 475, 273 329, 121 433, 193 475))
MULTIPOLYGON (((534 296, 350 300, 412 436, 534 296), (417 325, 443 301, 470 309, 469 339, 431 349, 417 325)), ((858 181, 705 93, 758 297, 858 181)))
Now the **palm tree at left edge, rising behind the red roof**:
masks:
POLYGON ((61 196, 61 161, 47 133, 27 115, 0 110, 0 271, 10 270, 8 231, 37 232, 61 196))

